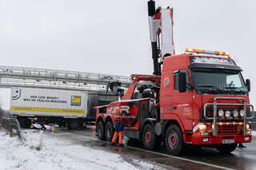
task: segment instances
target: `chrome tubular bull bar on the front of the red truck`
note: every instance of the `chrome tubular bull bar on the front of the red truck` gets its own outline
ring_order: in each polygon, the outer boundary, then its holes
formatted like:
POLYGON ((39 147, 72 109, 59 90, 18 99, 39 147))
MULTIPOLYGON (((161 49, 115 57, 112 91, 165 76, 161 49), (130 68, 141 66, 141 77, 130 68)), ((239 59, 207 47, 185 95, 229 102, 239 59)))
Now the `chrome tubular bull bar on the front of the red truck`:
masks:
POLYGON ((243 109, 245 112, 245 116, 243 117, 243 134, 246 135, 247 134, 247 129, 246 129, 246 121, 247 119, 252 119, 254 117, 254 106, 251 104, 247 104, 246 100, 242 97, 215 97, 214 98, 214 103, 206 103, 204 105, 203 108, 203 115, 206 119, 208 120, 213 120, 213 125, 214 127, 212 128, 212 132, 213 132, 213 136, 217 136, 217 106, 218 105, 243 105, 243 109), (235 103, 217 103, 218 99, 224 99, 224 100, 242 100, 243 104, 235 104, 235 103), (206 108, 209 105, 214 105, 214 117, 207 117, 206 115, 206 108), (252 116, 251 117, 247 117, 247 113, 246 113, 246 108, 247 106, 250 106, 252 108, 252 116))

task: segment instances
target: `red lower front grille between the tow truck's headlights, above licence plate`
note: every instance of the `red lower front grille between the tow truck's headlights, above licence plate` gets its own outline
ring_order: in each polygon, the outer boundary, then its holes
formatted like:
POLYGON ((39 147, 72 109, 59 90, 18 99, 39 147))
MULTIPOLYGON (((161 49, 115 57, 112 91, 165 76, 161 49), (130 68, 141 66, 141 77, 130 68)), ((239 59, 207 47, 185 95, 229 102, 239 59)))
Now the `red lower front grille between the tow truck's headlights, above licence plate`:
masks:
POLYGON ((234 135, 242 132, 241 125, 218 125, 218 135, 234 135), (240 126, 238 131, 238 126, 240 126))

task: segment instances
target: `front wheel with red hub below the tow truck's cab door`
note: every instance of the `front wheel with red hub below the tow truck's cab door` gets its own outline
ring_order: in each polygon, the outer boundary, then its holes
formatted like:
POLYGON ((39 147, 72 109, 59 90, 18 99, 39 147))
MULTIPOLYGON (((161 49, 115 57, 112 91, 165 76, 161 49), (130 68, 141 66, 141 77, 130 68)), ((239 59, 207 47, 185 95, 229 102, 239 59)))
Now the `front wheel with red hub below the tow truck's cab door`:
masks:
POLYGON ((166 148, 172 155, 180 155, 184 151, 182 132, 177 125, 171 125, 167 129, 166 148))

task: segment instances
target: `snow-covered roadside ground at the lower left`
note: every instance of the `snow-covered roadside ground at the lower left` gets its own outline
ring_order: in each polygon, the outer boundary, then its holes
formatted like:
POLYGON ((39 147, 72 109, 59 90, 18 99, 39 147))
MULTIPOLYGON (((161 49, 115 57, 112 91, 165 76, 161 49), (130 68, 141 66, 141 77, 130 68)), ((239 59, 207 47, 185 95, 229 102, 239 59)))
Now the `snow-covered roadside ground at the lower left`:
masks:
MULTIPOLYGON (((122 160, 116 153, 74 144, 70 140, 44 138, 41 151, 38 130, 26 130, 25 141, 10 137, 0 129, 0 170, 45 169, 160 169, 154 164, 131 159, 122 160)), ((44 135, 45 136, 45 135, 44 135)))

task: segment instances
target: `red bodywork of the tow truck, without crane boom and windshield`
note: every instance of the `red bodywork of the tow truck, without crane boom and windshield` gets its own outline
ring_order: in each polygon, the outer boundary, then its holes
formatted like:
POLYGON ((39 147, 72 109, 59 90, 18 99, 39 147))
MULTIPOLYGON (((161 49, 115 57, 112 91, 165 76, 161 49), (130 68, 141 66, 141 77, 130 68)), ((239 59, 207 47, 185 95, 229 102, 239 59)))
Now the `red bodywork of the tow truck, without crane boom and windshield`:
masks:
MULTIPOLYGON (((214 93, 210 93, 210 91, 198 93, 195 88, 186 89, 184 92, 175 89, 175 73, 180 70, 186 72, 186 84, 196 87, 197 85, 194 84, 191 74, 194 69, 213 69, 218 70, 220 73, 222 70, 234 70, 239 75, 241 69, 235 63, 233 65, 193 63, 191 57, 204 58, 205 60, 207 58, 212 60, 213 58, 218 61, 234 63, 230 57, 184 53, 165 57, 161 76, 131 75, 131 77, 134 77, 134 81, 122 97, 122 101, 97 107, 97 132, 99 138, 111 140, 114 132, 114 114, 121 112, 125 136, 142 140, 146 148, 155 148, 158 146, 157 143, 165 141, 167 148, 169 144, 169 150, 174 154, 182 152, 182 149, 178 152, 172 149, 178 143, 182 145, 182 148, 186 144, 209 145, 218 148, 220 151, 224 150, 223 152, 226 152, 226 150, 222 146, 230 146, 228 151, 231 152, 234 148, 231 146, 234 146, 234 144, 250 142, 252 136, 248 118, 252 111, 250 109, 252 105, 250 105, 247 93, 232 93, 232 90, 223 91, 223 93, 218 93, 218 91, 214 93), (154 90, 154 94, 158 93, 158 95, 134 98, 135 89, 138 88, 139 82, 142 81, 150 81, 154 86, 158 86, 158 90, 154 90), (218 117, 217 113, 214 123, 214 101, 216 101, 217 110, 229 110, 231 116, 218 117), (158 116, 155 116, 155 114, 152 116, 152 108, 157 110, 158 116), (206 109, 206 115, 204 115, 204 109, 206 109), (247 117, 241 117, 240 115, 234 117, 235 115, 232 113, 234 110, 238 112, 244 110, 247 112, 247 117), (99 124, 99 122, 101 123, 99 124), (179 136, 175 128, 174 132, 167 134, 172 125, 178 127, 182 136, 179 136), (218 127, 216 134, 214 134, 214 125, 218 127), (246 129, 244 125, 246 125, 246 129), (203 129, 200 129, 200 126, 203 129), (145 130, 145 128, 147 129, 145 130)), ((245 85, 243 79, 241 79, 240 83, 245 85)))

